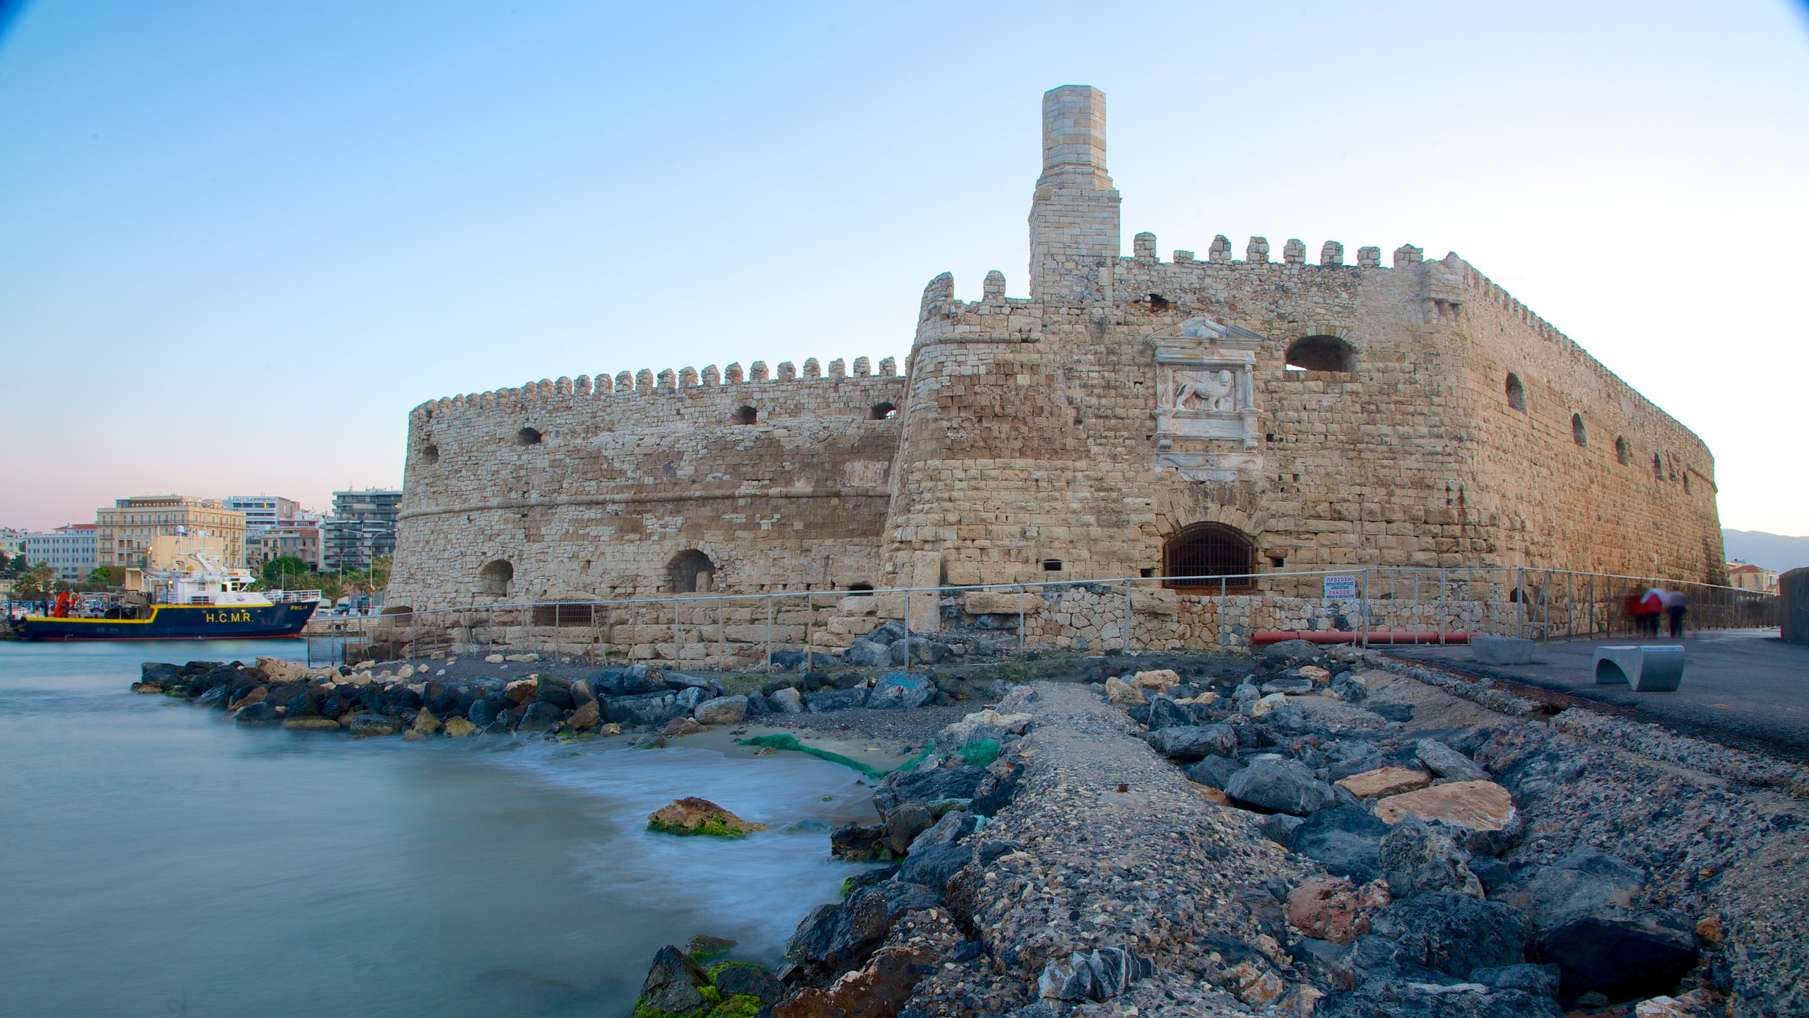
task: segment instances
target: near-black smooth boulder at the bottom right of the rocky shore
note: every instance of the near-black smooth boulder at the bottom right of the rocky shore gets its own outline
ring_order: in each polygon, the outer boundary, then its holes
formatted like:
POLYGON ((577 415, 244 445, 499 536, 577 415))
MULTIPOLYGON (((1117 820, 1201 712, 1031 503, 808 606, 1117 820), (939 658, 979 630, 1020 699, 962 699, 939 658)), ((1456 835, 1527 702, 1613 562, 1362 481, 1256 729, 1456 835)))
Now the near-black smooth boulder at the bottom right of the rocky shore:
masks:
POLYGON ((1624 918, 1579 918, 1547 929, 1539 960, 1558 965, 1559 1002, 1601 993, 1610 1002, 1673 993, 1697 964, 1695 931, 1668 911, 1624 918))

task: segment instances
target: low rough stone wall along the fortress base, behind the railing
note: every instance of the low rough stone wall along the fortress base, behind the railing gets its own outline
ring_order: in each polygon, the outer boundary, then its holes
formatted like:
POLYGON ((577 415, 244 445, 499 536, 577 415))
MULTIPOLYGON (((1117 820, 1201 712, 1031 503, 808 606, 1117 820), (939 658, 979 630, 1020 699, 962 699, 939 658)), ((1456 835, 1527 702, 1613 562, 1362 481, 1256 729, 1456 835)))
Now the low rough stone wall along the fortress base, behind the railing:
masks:
MULTIPOLYGON (((792 598, 680 598, 617 603, 559 603, 452 612, 384 616, 373 634, 373 654, 429 658, 434 654, 490 654, 534 650, 584 658, 595 663, 649 663, 689 668, 747 668, 767 661, 792 667, 805 652, 823 659, 856 661, 879 652, 859 643, 897 643, 906 629, 917 647, 914 661, 1017 654, 1020 648, 1105 652, 1246 648, 1261 630, 1351 632, 1494 632, 1539 636, 1579 632, 1592 625, 1606 632, 1614 616, 1603 605, 1590 612, 1545 614, 1541 605, 1473 600, 1480 592, 1507 598, 1505 589, 1451 583, 1445 598, 1425 591, 1424 600, 1375 596, 1368 601, 1326 601, 1275 591, 1196 594, 1165 587, 1120 583, 1058 583, 1024 589, 942 589, 939 594, 823 592, 792 598), (923 600, 923 610, 908 607, 923 600), (1364 612, 1368 610, 1368 625, 1364 612), (906 618, 910 612, 910 618, 906 618), (935 629, 928 629, 933 625, 935 629), (928 629, 928 630, 926 630, 928 629)), ((903 665, 903 654, 894 656, 903 665)))

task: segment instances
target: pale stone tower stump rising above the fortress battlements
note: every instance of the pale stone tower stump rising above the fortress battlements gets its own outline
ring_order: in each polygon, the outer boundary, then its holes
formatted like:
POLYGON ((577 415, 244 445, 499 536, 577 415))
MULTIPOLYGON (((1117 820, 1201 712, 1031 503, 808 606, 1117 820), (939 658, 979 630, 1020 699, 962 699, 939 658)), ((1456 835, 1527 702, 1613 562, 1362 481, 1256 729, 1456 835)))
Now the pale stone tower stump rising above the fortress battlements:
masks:
POLYGON ((1118 257, 1118 190, 1105 172, 1105 92, 1062 85, 1042 94, 1042 176, 1029 206, 1029 288, 1096 301, 1118 257))

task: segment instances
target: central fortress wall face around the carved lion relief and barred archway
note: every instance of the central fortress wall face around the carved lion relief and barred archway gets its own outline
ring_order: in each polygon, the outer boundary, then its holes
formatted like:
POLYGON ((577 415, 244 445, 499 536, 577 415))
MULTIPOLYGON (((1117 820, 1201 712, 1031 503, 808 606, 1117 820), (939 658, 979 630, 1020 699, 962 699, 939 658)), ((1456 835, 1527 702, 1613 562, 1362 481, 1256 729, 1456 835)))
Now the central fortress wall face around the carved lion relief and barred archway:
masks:
POLYGON ((1462 484, 1454 359, 1418 319, 1416 268, 1154 257, 1113 268, 1113 304, 1040 304, 1040 328, 1013 328, 1038 342, 977 342, 1000 321, 1028 326, 1038 308, 1002 319, 932 283, 894 502, 897 551, 942 551, 950 581, 1056 578, 1042 558, 1078 578, 1160 574, 1163 538, 1221 522, 1257 538, 1263 569, 1275 569, 1270 556, 1283 569, 1463 560, 1451 507, 1462 484), (1194 315, 1268 337, 1252 379, 1261 467, 1236 480, 1154 466, 1151 337, 1194 315), (1353 346, 1355 371, 1284 370, 1288 344, 1321 333, 1353 346), (1022 433, 991 437, 1004 422, 1022 433))

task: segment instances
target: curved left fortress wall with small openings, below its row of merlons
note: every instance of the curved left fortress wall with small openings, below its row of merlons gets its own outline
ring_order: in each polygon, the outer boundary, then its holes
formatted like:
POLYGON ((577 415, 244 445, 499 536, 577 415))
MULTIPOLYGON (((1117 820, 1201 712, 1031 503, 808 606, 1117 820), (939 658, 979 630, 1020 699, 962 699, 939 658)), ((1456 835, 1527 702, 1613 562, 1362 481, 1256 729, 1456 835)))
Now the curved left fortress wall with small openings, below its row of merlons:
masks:
POLYGON ((671 592, 686 549, 715 563, 716 591, 876 583, 899 418, 872 415, 903 402, 903 379, 581 382, 411 413, 393 603, 671 592), (494 560, 514 571, 507 594, 481 576, 494 560))

